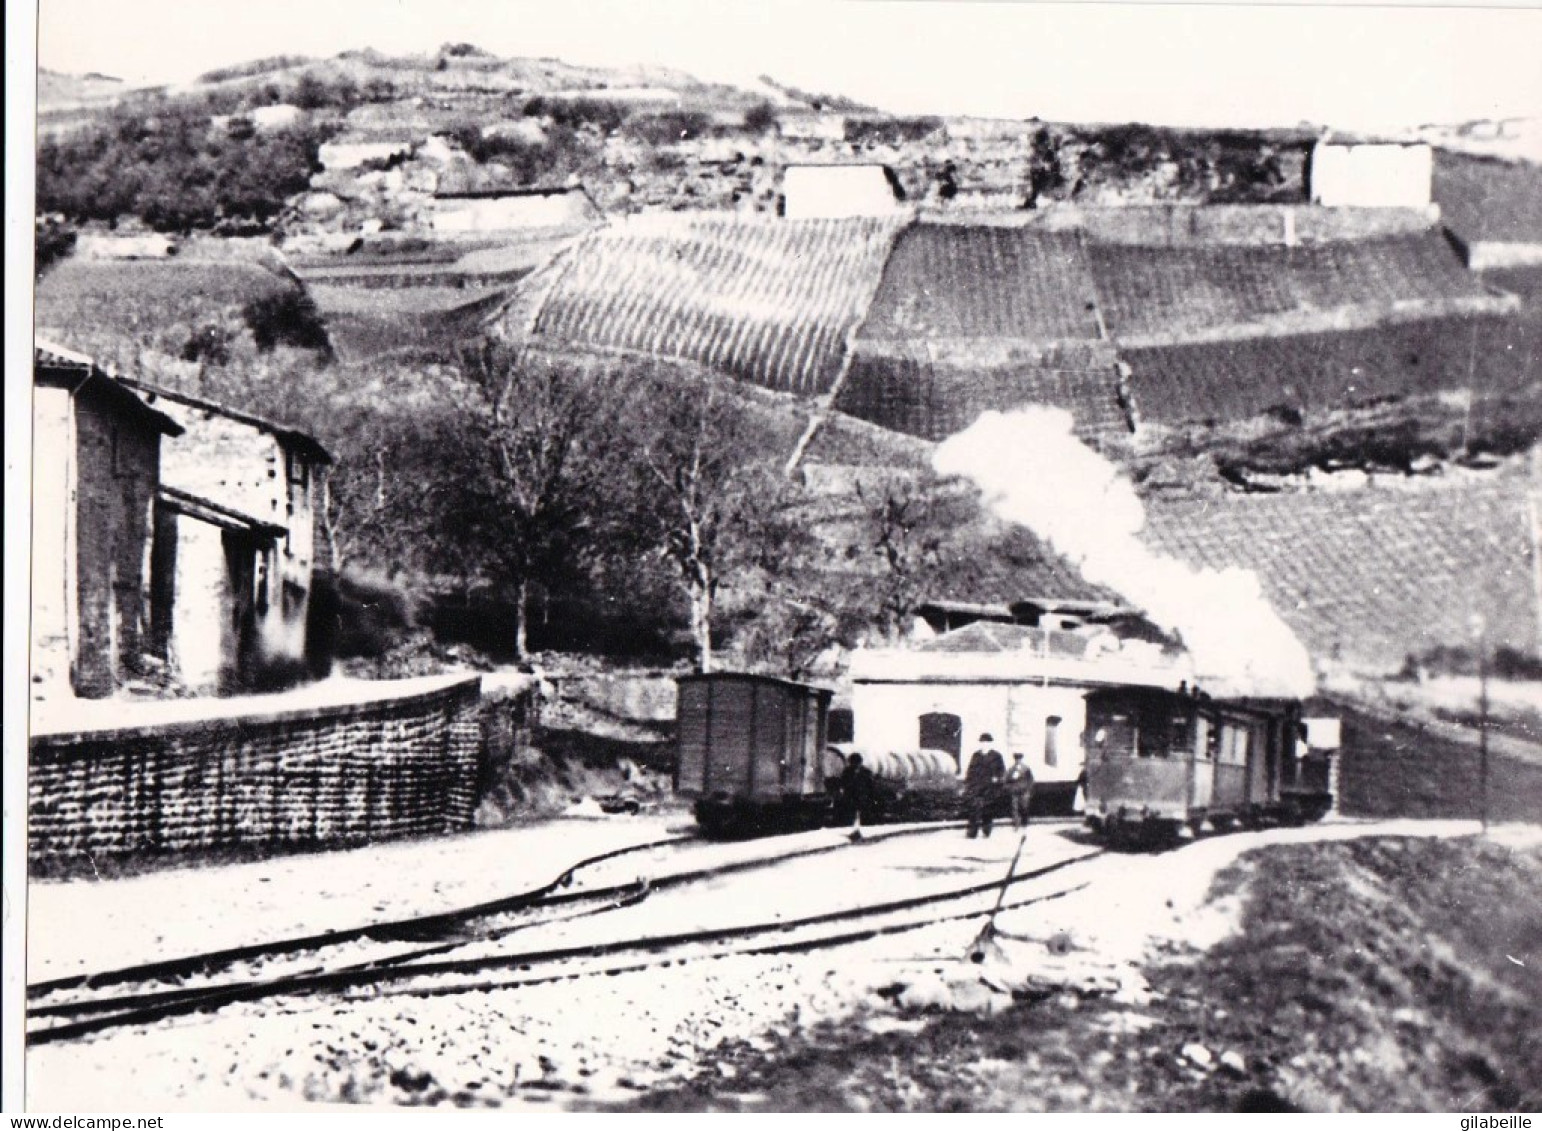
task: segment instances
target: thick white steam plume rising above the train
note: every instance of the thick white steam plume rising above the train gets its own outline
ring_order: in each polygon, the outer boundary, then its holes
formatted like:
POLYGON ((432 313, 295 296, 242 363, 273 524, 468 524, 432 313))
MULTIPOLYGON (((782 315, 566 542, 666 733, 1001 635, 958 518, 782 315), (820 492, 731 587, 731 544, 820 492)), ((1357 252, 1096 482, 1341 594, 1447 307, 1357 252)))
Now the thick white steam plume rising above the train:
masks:
POLYGON ((1201 685, 1217 694, 1303 697, 1306 648, 1249 569, 1194 569, 1136 535, 1146 508, 1119 469, 1076 440, 1062 409, 987 412, 931 457, 942 475, 979 484, 1002 518, 1027 526, 1082 576, 1175 633, 1201 685))

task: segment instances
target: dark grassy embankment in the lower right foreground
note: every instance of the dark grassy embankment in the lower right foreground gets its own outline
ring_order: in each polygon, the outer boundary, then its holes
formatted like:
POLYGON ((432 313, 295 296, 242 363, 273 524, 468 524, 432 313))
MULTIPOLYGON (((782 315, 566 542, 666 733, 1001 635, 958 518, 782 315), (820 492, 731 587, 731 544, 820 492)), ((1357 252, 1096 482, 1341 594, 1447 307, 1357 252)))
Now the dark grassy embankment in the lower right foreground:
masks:
MULTIPOLYGON (((1525 1111, 1542 1103, 1542 852, 1365 839, 1280 847, 1221 873, 1243 930, 1147 969, 1144 1008, 1059 995, 726 1049, 729 1085, 648 1109, 1525 1111), (1523 963, 1523 964, 1517 964, 1523 963), (1201 1069, 1203 1045, 1243 1069, 1201 1069), (729 1091, 731 1089, 731 1091, 729 1091), (752 1097, 752 1099, 748 1099, 752 1097)), ((711 1077, 708 1077, 711 1080, 711 1077)))

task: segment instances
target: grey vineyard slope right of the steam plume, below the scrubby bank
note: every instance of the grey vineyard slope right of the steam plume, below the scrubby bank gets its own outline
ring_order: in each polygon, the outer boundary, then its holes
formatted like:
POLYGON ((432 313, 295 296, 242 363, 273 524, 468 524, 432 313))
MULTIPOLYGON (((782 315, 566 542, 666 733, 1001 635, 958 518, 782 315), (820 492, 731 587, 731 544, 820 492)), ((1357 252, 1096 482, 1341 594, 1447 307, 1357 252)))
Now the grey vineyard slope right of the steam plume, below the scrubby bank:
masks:
POLYGON ((1396 671, 1471 639, 1536 654, 1536 549, 1520 477, 1147 501, 1143 538, 1195 566, 1254 569, 1317 657, 1396 671))

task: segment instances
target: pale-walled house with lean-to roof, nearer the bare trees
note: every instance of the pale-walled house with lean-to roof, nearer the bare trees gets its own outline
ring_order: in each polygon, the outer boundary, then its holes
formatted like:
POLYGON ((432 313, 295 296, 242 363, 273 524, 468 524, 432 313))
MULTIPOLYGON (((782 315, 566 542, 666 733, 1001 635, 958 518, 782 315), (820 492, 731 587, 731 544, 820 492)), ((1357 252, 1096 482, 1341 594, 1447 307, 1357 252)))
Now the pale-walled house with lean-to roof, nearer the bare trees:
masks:
POLYGON ((298 682, 311 642, 316 514, 332 455, 313 437, 123 380, 182 429, 154 501, 154 647, 205 694, 298 682))

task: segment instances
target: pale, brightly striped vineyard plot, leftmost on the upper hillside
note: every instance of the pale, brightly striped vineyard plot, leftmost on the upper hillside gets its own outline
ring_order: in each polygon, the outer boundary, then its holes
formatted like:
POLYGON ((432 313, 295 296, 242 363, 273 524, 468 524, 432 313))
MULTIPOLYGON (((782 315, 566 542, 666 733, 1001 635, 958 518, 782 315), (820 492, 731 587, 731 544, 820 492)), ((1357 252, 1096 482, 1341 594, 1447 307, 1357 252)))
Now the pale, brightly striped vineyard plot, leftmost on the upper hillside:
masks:
POLYGON ((902 222, 634 216, 567 253, 535 336, 819 393, 840 369, 902 222))

